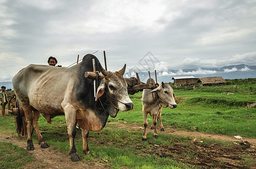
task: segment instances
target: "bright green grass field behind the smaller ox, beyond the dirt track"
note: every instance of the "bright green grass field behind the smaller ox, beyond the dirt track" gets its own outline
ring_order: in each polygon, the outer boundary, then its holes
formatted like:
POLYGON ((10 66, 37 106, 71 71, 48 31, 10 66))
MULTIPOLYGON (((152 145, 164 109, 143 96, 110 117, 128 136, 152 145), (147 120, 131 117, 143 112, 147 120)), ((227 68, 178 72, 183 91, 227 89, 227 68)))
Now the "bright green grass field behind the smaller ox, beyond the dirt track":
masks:
MULTIPOLYGON (((176 97, 189 98, 180 101, 176 109, 162 110, 164 126, 176 127, 180 130, 193 130, 193 127, 197 127, 200 132, 256 138, 256 110, 244 109, 247 103, 255 103, 255 95, 227 95, 192 90, 174 90, 174 94, 176 97)), ((119 112, 116 118, 109 119, 111 121, 123 119, 128 123, 139 123, 143 127, 142 92, 132 97, 133 110, 119 112)), ((148 115, 148 123, 152 123, 150 115, 148 115)))

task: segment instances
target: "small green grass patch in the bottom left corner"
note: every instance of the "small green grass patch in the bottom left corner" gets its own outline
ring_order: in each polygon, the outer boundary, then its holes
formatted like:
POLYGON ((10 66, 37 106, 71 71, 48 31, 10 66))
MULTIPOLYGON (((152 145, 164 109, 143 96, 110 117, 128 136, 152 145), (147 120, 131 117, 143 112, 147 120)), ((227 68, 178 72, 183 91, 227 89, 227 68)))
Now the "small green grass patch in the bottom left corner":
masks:
POLYGON ((31 154, 11 143, 0 142, 0 168, 23 168, 33 161, 31 154))

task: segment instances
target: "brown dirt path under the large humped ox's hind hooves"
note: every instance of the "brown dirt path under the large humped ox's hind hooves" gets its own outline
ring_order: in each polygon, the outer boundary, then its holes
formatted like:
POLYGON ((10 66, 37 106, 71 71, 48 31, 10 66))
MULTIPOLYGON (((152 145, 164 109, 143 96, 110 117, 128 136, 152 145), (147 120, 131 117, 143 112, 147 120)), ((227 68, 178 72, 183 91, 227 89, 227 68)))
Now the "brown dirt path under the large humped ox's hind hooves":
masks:
MULTIPOLYGON (((6 143, 12 143, 16 146, 26 149, 27 141, 20 140, 18 136, 0 134, 0 141, 6 143)), ((32 154, 36 161, 27 164, 25 168, 105 168, 100 163, 86 161, 86 163, 72 162, 70 155, 67 153, 56 153, 54 148, 49 147, 48 149, 42 149, 36 141, 34 141, 35 150, 28 151, 32 154)))

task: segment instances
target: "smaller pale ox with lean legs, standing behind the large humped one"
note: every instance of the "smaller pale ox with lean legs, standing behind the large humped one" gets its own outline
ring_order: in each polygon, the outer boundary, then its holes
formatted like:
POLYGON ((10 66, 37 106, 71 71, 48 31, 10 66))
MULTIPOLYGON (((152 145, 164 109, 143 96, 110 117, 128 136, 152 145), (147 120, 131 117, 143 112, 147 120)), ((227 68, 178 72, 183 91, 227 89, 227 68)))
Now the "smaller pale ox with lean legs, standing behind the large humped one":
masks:
MULTIPOLYGON (((153 79, 151 79, 152 83, 155 83, 153 79)), ((150 83, 150 79, 147 80, 147 83, 150 83)), ((148 113, 152 116, 152 126, 151 129, 154 130, 153 136, 157 138, 156 132, 156 122, 157 117, 160 121, 160 128, 161 131, 164 131, 164 127, 161 121, 161 111, 162 108, 177 108, 177 104, 174 100, 174 93, 173 88, 170 87, 168 83, 160 83, 159 87, 155 88, 154 90, 144 89, 142 94, 142 113, 144 117, 144 133, 142 136, 142 140, 147 140, 147 126, 148 120, 147 115, 148 113), (153 97, 152 97, 153 94, 153 97)))

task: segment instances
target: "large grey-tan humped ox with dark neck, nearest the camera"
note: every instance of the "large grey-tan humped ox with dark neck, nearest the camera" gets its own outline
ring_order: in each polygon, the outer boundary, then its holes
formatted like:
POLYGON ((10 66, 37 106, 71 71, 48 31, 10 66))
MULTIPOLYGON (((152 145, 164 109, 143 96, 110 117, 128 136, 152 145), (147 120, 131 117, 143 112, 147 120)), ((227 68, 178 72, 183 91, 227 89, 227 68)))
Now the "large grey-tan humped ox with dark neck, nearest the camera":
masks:
POLYGON ((75 124, 78 122, 82 128, 83 151, 88 154, 88 131, 101 130, 109 115, 116 117, 119 110, 133 109, 123 73, 125 66, 118 72, 104 70, 97 57, 91 54, 84 56, 81 63, 71 68, 31 64, 20 70, 12 83, 25 112, 28 128, 27 150, 34 149, 31 125, 35 128, 41 148, 49 147, 39 131, 38 119, 42 113, 48 119, 65 115, 72 161, 80 160, 74 142, 75 124), (103 79, 97 80, 96 97, 93 94, 93 80, 84 77, 85 72, 93 71, 92 59, 95 59, 96 70, 104 75, 103 79))

